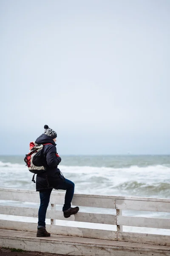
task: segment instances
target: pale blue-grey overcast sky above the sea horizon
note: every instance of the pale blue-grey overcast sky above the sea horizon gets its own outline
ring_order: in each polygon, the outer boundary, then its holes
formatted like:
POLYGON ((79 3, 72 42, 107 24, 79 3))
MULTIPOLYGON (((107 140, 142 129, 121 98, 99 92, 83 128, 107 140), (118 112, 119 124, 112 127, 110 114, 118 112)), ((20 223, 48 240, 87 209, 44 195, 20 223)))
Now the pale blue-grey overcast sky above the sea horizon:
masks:
POLYGON ((0 154, 170 154, 170 0, 0 0, 0 154))

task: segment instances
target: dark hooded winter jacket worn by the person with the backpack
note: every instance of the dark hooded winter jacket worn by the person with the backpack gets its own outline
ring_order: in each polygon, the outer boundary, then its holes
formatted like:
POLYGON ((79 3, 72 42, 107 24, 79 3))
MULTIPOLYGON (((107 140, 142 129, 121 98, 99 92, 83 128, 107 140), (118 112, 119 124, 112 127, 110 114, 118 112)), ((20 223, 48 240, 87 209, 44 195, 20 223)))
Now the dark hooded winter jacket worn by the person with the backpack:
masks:
POLYGON ((65 186, 65 179, 61 175, 58 165, 61 162, 61 158, 57 157, 56 143, 50 136, 46 134, 40 135, 35 141, 37 144, 48 144, 43 147, 44 155, 44 167, 45 172, 37 174, 36 177, 36 191, 54 188, 58 189, 59 186, 65 186))

